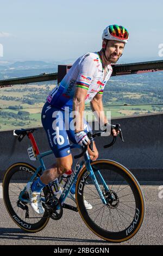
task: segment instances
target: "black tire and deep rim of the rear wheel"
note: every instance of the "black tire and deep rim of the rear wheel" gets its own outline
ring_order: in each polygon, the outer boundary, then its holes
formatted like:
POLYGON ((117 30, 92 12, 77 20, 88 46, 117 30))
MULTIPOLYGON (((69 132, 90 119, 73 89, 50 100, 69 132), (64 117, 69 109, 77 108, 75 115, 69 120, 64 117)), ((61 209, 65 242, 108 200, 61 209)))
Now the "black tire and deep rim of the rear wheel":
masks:
MULTIPOLYGON (((20 191, 23 190, 24 186, 30 179, 29 177, 35 171, 36 171, 36 168, 32 165, 24 162, 17 162, 12 164, 6 170, 4 179, 3 179, 3 200, 10 217, 18 225, 18 227, 32 233, 38 232, 46 227, 49 221, 47 210, 45 210, 44 214, 41 215, 40 217, 40 215, 35 214, 35 212, 32 210, 30 205, 27 204, 30 211, 30 215, 36 216, 34 218, 38 220, 37 222, 35 222, 33 218, 35 223, 29 223, 28 221, 29 220, 32 221, 32 219, 30 218, 28 219, 25 217, 26 221, 24 221, 24 218, 22 219, 22 216, 24 216, 24 213, 25 213, 23 212, 24 210, 22 210, 18 206, 17 206, 18 209, 16 208, 16 206, 13 208, 12 203, 17 205, 20 191), (22 181, 20 180, 20 176, 22 177, 22 181), (15 181, 18 181, 17 184, 15 181), (12 189, 14 189, 14 191, 12 191, 12 189), (14 198, 16 200, 11 201, 11 198, 14 198), (17 212, 16 212, 16 209, 17 209, 17 212), (20 211, 20 214, 18 214, 19 211, 20 211)), ((46 188, 43 189, 43 194, 46 194, 46 188)))

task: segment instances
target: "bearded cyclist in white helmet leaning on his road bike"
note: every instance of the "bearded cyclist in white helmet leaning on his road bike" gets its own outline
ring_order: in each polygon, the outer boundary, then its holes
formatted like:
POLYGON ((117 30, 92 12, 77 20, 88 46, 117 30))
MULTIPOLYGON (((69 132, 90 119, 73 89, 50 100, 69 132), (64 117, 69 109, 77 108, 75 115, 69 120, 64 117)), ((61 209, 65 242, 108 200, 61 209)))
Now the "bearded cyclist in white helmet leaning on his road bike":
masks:
MULTIPOLYGON (((79 57, 60 84, 48 95, 41 120, 57 163, 45 170, 39 179, 27 183, 30 204, 37 214, 44 212, 40 196, 42 188, 71 170, 72 155, 68 138, 80 145, 90 143, 86 132, 91 129, 83 118, 85 104, 90 102, 92 111, 96 111, 101 123, 109 125, 105 115, 100 114, 103 112, 103 90, 112 73, 111 63, 116 63, 122 56, 128 39, 126 28, 118 25, 106 27, 102 34, 101 51, 79 57), (69 114, 73 111, 76 112, 75 117, 69 114)), ((117 136, 117 133, 115 129, 111 130, 113 136, 117 136)), ((88 147, 88 153, 91 160, 97 159, 95 142, 93 151, 88 147)), ((85 200, 84 203, 86 209, 92 209, 89 202, 85 200)))

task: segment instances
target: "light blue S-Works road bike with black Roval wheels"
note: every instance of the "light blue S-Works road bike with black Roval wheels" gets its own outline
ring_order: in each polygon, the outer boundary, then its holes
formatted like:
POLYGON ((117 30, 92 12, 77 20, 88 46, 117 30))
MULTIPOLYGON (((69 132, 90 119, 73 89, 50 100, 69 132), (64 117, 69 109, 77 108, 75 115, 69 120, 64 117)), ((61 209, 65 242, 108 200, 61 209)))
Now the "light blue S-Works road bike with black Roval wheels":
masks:
MULTIPOLYGON (((123 140, 120 125, 115 127, 120 131, 123 140)), ((38 215, 33 211, 29 204, 26 184, 37 179, 46 169, 42 158, 53 154, 52 151, 39 152, 33 136, 34 130, 36 129, 16 130, 15 133, 19 141, 28 136, 32 143, 28 150, 30 157, 36 157, 40 166, 35 168, 24 162, 14 163, 7 169, 3 180, 4 203, 12 220, 26 231, 37 232, 46 227, 49 218, 59 220, 63 209, 66 208, 79 212, 87 227, 104 240, 122 242, 133 237, 145 217, 145 200, 139 183, 134 175, 118 162, 106 159, 91 161, 87 146, 71 145, 72 150, 77 151, 79 148, 82 153, 74 156, 74 159, 80 160, 76 163, 64 190, 58 198, 54 196, 53 189, 48 184, 41 193, 44 214, 38 215), (74 182, 76 206, 65 203, 74 182), (91 210, 86 210, 84 199, 92 205, 91 210)), ((87 134, 91 149, 93 139, 102 134, 103 132, 87 134)), ((113 137, 112 142, 104 148, 115 142, 116 137, 113 137)))

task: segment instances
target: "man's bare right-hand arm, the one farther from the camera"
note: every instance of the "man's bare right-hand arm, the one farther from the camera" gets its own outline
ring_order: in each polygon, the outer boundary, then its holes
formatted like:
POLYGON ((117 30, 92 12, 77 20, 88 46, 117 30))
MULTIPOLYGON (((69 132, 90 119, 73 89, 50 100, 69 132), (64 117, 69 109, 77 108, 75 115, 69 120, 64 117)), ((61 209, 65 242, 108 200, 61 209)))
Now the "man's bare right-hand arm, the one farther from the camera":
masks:
POLYGON ((95 112, 95 116, 98 121, 101 122, 102 125, 108 123, 108 120, 104 114, 104 107, 103 107, 103 101, 102 101, 103 94, 97 93, 95 97, 91 100, 91 109, 95 112))

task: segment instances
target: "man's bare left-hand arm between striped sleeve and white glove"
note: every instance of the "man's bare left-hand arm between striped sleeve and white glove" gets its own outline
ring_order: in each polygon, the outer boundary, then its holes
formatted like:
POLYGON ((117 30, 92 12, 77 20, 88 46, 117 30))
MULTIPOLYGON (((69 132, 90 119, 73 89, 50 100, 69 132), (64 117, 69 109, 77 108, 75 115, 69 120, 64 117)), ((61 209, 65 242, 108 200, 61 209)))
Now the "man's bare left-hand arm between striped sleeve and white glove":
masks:
POLYGON ((85 90, 84 88, 76 88, 76 93, 73 98, 73 111, 76 111, 74 119, 75 132, 84 130, 83 114, 85 108, 86 94, 87 90, 85 90))

